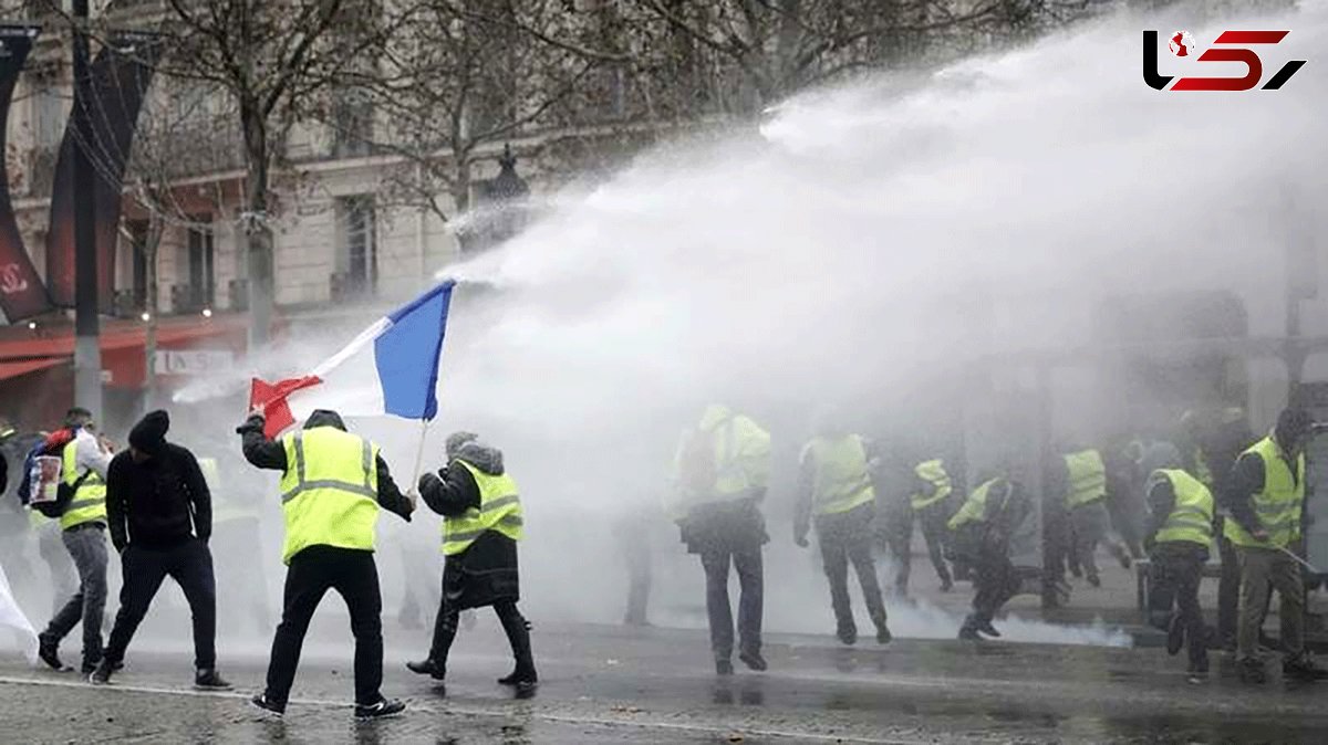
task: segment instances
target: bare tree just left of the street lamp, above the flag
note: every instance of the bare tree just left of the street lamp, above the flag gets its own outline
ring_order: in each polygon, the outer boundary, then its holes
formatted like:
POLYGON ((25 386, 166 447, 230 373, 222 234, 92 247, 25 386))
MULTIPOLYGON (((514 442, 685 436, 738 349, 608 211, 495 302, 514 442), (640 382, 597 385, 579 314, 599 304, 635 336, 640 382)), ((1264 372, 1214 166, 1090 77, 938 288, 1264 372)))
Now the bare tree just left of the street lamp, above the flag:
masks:
POLYGON ((610 57, 582 44, 580 19, 562 1, 418 0, 393 12, 376 65, 331 89, 321 118, 336 137, 397 158, 384 174, 389 200, 444 221, 470 208, 485 146, 564 123, 610 57), (376 125, 339 117, 337 97, 359 97, 376 125))

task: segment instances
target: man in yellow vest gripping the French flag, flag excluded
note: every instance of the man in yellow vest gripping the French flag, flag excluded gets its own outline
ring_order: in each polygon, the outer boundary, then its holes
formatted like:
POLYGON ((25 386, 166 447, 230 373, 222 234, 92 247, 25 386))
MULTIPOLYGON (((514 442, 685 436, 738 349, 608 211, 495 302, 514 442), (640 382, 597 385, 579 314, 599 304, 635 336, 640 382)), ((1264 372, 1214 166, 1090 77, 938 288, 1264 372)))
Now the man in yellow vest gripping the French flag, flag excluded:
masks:
POLYGON ((244 459, 282 472, 286 514, 286 573, 282 623, 272 638, 267 688, 251 703, 274 716, 286 713, 300 648, 323 595, 336 590, 351 614, 355 635, 355 716, 381 718, 405 711, 382 697, 382 594, 373 562, 380 508, 410 521, 414 504, 397 488, 378 445, 347 432, 335 411, 317 410, 303 430, 268 440, 262 414, 236 433, 244 459))

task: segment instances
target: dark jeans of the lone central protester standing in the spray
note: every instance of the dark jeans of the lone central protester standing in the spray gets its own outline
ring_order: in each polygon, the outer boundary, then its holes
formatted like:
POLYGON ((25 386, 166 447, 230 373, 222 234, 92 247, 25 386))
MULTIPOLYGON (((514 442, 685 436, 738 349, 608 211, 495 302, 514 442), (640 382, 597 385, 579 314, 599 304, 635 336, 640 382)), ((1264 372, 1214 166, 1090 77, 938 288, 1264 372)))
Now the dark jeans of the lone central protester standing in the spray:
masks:
POLYGON ((733 658, 733 610, 729 606, 729 563, 738 573, 738 643, 742 652, 761 652, 761 608, 764 570, 761 549, 736 551, 706 547, 701 551, 705 569, 705 611, 710 619, 710 648, 716 660, 733 658))

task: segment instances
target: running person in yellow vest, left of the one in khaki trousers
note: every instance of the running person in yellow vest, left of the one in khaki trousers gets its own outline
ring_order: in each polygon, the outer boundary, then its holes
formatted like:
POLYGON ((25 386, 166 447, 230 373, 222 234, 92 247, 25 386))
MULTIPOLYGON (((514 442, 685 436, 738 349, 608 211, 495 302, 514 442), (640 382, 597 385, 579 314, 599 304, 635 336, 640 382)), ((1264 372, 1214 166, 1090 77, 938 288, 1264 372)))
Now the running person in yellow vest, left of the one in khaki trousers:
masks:
POLYGON ((1208 639, 1199 607, 1199 582, 1212 545, 1216 509, 1212 492, 1181 468, 1181 451, 1154 443, 1139 463, 1149 472, 1145 493, 1149 524, 1143 545, 1149 550, 1155 591, 1174 598, 1177 612, 1167 623, 1167 654, 1175 655, 1189 639, 1190 680, 1208 673, 1208 639))

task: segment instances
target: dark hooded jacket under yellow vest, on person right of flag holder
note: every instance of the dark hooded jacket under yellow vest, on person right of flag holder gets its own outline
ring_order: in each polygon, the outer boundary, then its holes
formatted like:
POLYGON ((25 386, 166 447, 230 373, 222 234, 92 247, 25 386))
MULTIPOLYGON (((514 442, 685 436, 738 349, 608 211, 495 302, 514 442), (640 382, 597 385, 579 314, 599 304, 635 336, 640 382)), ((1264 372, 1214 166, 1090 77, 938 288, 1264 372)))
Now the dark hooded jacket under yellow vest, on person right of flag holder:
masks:
MULTIPOLYGON (((502 451, 478 441, 461 445, 452 464, 420 477, 420 497, 444 517, 459 517, 467 509, 479 508, 475 477, 457 460, 490 476, 506 472, 502 451)), ((517 602, 521 597, 517 541, 487 530, 466 550, 448 557, 442 570, 442 593, 449 607, 457 610, 491 606, 499 601, 517 602)))

